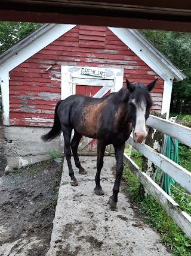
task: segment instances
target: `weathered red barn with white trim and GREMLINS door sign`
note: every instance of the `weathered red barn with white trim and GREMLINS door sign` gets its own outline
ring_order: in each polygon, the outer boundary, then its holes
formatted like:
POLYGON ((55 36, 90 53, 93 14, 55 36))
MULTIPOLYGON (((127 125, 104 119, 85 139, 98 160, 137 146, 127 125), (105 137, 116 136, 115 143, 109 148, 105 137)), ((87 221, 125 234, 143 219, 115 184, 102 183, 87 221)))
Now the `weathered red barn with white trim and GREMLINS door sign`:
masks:
MULTIPOLYGON (((71 94, 103 97, 125 79, 147 84, 158 77, 152 110, 168 116, 172 82, 185 78, 136 29, 105 26, 42 25, 2 53, 0 65, 8 168, 60 151, 60 138, 40 138, 53 124, 58 100, 71 94)), ((79 150, 96 150, 96 141, 84 138, 79 150)))

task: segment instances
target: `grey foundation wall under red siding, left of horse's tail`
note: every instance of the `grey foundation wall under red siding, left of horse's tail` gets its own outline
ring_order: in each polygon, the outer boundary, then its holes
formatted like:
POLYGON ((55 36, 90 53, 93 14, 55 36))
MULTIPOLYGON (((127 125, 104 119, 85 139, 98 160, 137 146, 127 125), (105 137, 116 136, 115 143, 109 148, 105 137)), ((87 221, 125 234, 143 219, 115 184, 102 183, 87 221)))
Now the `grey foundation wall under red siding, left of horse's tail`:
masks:
POLYGON ((41 135, 51 128, 4 127, 4 150, 8 165, 5 172, 50 158, 50 152, 61 153, 60 137, 44 142, 41 135))

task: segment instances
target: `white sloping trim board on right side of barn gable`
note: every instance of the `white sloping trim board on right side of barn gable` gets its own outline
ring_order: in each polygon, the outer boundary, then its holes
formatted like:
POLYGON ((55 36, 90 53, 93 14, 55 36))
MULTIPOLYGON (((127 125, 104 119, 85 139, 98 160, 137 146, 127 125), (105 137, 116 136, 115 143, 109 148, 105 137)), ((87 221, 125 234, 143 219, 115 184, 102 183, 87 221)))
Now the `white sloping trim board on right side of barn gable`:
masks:
POLYGON ((142 61, 144 61, 163 80, 174 79, 174 73, 145 46, 132 32, 131 29, 108 27, 124 44, 126 44, 142 61))

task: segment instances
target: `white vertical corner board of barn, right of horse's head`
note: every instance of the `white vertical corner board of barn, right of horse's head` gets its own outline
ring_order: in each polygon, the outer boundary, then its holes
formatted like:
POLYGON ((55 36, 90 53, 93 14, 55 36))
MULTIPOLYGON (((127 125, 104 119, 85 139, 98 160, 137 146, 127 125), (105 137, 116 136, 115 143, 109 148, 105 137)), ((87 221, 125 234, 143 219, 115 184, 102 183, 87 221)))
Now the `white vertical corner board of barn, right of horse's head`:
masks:
POLYGON ((164 90, 162 95, 162 109, 161 114, 167 113, 166 119, 169 118, 170 104, 171 104, 171 94, 172 94, 172 81, 164 82, 164 90))

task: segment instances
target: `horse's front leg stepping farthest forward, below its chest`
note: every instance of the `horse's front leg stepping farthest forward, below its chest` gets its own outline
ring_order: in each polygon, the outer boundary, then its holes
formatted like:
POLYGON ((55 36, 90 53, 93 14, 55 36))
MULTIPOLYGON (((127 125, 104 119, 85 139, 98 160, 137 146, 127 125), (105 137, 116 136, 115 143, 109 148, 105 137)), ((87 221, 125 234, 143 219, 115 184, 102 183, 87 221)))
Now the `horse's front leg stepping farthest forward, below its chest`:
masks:
POLYGON ((123 157, 124 157, 124 149, 125 143, 115 146, 115 158, 116 158, 116 176, 115 176, 115 184, 113 186, 113 195, 109 198, 109 205, 112 209, 116 208, 116 204, 118 201, 118 193, 119 193, 119 186, 121 182, 121 176, 123 173, 123 157))

